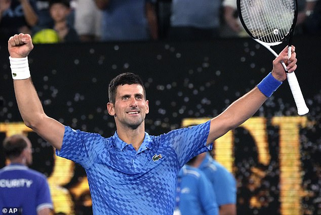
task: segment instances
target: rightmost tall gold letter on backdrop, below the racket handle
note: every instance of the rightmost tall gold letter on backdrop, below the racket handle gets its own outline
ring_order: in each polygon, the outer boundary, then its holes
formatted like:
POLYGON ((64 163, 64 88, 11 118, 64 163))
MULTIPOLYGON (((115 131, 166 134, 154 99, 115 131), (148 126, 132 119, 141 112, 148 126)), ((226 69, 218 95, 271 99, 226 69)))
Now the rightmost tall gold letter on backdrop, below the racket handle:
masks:
POLYGON ((272 124, 279 127, 280 211, 282 215, 300 215, 300 127, 306 126, 307 118, 273 117, 272 124))

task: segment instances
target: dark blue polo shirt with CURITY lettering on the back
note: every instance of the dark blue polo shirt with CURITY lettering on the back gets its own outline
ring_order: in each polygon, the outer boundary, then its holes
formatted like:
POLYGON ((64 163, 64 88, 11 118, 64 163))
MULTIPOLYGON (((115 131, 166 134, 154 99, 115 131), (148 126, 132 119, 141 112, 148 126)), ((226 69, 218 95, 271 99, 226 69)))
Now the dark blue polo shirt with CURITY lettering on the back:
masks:
POLYGON ((0 169, 0 208, 21 207, 22 214, 36 215, 53 208, 47 178, 27 166, 10 164, 0 169))

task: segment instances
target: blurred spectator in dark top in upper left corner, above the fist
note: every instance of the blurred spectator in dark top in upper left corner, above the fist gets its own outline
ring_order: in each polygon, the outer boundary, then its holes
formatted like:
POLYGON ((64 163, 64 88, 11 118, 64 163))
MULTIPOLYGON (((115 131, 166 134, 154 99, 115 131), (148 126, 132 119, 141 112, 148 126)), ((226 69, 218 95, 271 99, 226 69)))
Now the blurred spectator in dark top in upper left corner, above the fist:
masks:
POLYGON ((34 0, 0 0, 0 40, 18 33, 31 34, 38 21, 34 0))

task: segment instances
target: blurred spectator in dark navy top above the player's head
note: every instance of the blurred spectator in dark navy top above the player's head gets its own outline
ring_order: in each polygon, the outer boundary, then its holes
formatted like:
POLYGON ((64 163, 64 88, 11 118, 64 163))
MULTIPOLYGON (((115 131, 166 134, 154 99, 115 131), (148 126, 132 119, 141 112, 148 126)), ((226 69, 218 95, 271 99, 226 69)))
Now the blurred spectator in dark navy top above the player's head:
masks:
POLYGON ((102 10, 103 41, 133 41, 158 38, 152 0, 95 0, 102 10))

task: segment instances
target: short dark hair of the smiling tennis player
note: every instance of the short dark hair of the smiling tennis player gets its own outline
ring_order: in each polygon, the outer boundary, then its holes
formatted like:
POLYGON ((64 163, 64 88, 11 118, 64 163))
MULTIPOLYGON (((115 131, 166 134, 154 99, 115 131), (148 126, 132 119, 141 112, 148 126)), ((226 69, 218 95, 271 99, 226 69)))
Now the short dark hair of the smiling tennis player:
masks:
POLYGON ((125 72, 125 73, 117 75, 116 77, 114 77, 110 81, 109 86, 108 86, 109 102, 111 102, 113 104, 115 103, 117 87, 119 85, 124 85, 124 84, 139 84, 139 85, 141 85, 144 90, 144 97, 146 100, 146 91, 145 91, 145 86, 144 86, 142 79, 137 74, 134 74, 131 72, 125 72))

